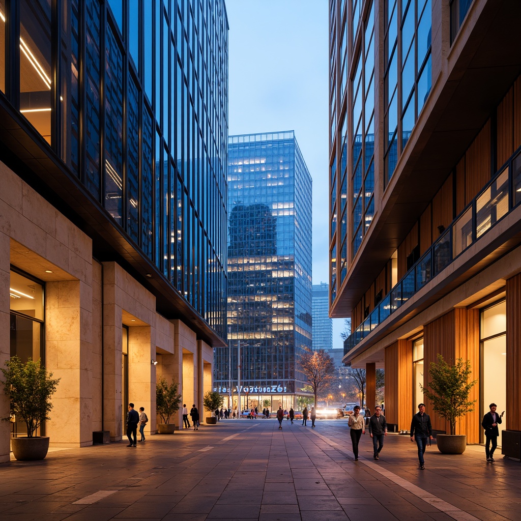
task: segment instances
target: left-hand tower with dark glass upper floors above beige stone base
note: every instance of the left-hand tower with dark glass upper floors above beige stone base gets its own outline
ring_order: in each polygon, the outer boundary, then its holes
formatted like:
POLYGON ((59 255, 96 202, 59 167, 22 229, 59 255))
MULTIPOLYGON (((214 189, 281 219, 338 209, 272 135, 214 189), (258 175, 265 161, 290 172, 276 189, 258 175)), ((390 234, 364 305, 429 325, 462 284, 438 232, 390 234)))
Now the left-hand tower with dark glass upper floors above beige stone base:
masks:
POLYGON ((155 432, 156 380, 201 407, 226 345, 224 0, 0 11, 0 360, 61 378, 51 445, 120 440, 129 401, 155 432))

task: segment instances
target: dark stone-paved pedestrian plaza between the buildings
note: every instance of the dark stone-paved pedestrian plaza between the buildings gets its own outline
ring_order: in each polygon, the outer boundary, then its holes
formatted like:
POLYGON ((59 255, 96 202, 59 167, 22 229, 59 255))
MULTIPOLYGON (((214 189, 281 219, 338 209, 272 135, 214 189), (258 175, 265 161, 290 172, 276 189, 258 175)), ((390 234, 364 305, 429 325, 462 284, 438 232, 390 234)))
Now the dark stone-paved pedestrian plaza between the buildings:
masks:
POLYGON ((420 470, 408 436, 388 435, 374 461, 366 433, 355 463, 345 419, 301 424, 230 419, 136 448, 11 461, 0 465, 0 519, 521 520, 521 464, 499 450, 487 464, 482 446, 449 456, 433 445, 420 470))

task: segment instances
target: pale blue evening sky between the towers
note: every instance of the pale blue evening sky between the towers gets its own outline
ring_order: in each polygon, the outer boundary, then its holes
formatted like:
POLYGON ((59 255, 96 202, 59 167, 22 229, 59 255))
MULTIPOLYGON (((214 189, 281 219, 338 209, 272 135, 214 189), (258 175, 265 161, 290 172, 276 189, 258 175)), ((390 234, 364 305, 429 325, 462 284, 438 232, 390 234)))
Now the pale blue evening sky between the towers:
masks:
MULTIPOLYGON (((294 130, 313 178, 313 283, 329 280, 328 1, 226 0, 229 134, 294 130)), ((333 320, 341 348, 343 319, 333 320)))

